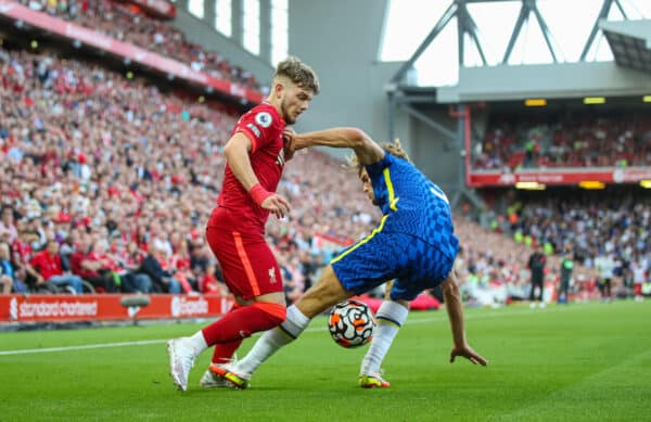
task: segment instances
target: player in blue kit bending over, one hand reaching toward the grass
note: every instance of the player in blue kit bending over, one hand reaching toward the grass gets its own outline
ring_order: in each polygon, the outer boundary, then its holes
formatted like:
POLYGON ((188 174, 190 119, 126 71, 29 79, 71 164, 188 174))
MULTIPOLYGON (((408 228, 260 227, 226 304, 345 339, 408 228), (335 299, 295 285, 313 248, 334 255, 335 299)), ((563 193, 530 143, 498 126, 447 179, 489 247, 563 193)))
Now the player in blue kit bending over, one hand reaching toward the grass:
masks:
POLYGON ((426 289, 441 285, 452 332, 450 362, 458 356, 472 363, 487 361, 465 340, 463 308, 454 271, 459 241, 454 234, 445 193, 413 164, 399 143, 379 145, 363 131, 334 128, 308 133, 288 133, 286 154, 324 145, 349 148, 353 166, 363 191, 382 210, 379 226, 366 238, 332 259, 319 279, 294 305, 286 320, 265 332, 251 351, 230 365, 210 370, 233 386, 245 388, 253 372, 280 347, 291 343, 309 321, 331 306, 388 283, 385 300, 376 312, 378 328, 360 369, 362 387, 388 387, 380 371, 398 329, 407 319, 409 302, 426 289))

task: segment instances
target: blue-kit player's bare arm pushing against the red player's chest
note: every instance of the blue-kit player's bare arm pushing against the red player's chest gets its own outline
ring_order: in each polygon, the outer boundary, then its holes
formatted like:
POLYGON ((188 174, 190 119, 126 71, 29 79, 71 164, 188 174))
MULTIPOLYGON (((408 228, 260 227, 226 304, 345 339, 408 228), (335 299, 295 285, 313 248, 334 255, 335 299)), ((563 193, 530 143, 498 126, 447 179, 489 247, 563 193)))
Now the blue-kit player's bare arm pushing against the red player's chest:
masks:
POLYGON ((292 139, 293 151, 315 145, 353 149, 362 165, 378 163, 384 157, 384 150, 357 128, 318 130, 295 135, 292 139))

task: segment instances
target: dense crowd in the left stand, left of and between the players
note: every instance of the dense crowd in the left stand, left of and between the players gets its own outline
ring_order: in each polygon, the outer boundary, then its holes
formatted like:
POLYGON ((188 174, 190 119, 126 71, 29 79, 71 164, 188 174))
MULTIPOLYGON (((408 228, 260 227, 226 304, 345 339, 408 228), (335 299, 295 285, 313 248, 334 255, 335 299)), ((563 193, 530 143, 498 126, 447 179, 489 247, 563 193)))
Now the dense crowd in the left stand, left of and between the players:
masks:
MULTIPOLYGON (((0 241, 11 247, 15 280, 33 289, 79 276, 105 292, 221 291, 203 227, 235 116, 52 53, 0 50, 0 241), (59 251, 46 247, 52 240, 59 251), (35 260, 41 250, 49 255, 35 260)), ((288 167, 280 192, 292 219, 271 221, 269 240, 302 292, 328 259, 315 233, 341 247, 376 218, 328 155, 297 154, 288 167)), ((65 282, 79 291, 74 280, 65 282)))

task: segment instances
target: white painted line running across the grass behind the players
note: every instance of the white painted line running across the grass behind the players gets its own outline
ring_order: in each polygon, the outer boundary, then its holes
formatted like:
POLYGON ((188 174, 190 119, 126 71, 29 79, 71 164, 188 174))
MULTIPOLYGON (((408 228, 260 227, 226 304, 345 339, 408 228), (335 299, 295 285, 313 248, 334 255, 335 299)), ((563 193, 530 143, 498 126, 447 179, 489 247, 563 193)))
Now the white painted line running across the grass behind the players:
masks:
MULTIPOLYGON (((550 308, 546 309, 546 312, 549 311, 561 310, 560 308, 550 308)), ((562 310, 567 310, 563 308, 562 310)), ((516 315, 532 315, 535 310, 515 310, 515 311, 507 311, 507 312, 498 312, 498 314, 486 314, 486 315, 467 315, 465 319, 483 319, 483 318, 499 318, 499 317, 511 317, 516 315)), ((447 314, 442 315, 436 318, 422 318, 416 320, 407 320, 407 324, 417 324, 417 323, 425 323, 433 321, 443 321, 447 320, 447 314)), ((326 331, 326 328, 316 328, 312 327, 310 329, 305 330, 306 332, 318 332, 326 331)), ((29 354, 46 354, 46 353, 55 353, 55 351, 72 351, 72 350, 88 350, 93 348, 110 348, 110 347, 129 347, 129 346, 146 346, 151 344, 161 344, 167 342, 169 338, 157 338, 157 340, 139 340, 135 342, 119 342, 119 343, 100 343, 100 344, 87 344, 80 346, 65 346, 65 347, 46 347, 46 348, 25 348, 17 350, 0 350, 0 356, 13 356, 13 355, 29 355, 29 354)))

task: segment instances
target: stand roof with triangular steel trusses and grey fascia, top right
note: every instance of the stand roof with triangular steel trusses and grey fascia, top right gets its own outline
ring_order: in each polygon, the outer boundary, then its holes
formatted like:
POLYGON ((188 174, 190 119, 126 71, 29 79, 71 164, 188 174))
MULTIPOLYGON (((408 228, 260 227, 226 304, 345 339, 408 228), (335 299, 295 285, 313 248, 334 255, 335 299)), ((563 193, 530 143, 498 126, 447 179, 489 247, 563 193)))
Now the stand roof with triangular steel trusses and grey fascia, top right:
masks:
MULTIPOLYGON (((647 1, 649 0, 643 0, 647 1)), ((584 25, 580 35, 574 31, 560 33, 564 39, 578 41, 573 50, 574 60, 569 60, 559 48, 558 38, 552 31, 554 27, 560 27, 548 24, 546 17, 553 17, 551 12, 554 12, 557 17, 562 13, 562 21, 573 27, 572 24, 585 20, 584 13, 579 13, 582 8, 565 9, 564 3, 559 0, 451 0, 427 37, 394 75, 386 86, 386 91, 393 94, 392 92, 397 90, 395 99, 410 102, 416 89, 430 98, 435 95, 435 102, 438 103, 648 95, 651 92, 651 79, 648 77, 651 73, 651 20, 629 20, 629 13, 623 7, 622 0, 591 0, 590 3, 593 9, 593 14, 590 15, 593 16, 593 21, 590 20, 591 29, 584 25), (478 10, 472 9, 481 3, 487 5, 482 10, 486 13, 493 13, 493 8, 500 3, 515 8, 512 8, 511 12, 519 10, 519 13, 512 16, 515 18, 512 27, 505 21, 507 34, 510 35, 502 38, 506 46, 502 59, 497 63, 488 60, 487 50, 484 48, 485 39, 476 24, 482 15, 477 14, 478 10), (459 35, 456 37, 459 65, 456 84, 429 87, 418 81, 413 84, 409 73, 414 69, 416 62, 446 27, 452 26, 450 23, 454 20, 459 35), (528 34, 525 28, 531 29, 532 25, 540 28, 539 52, 547 53, 549 60, 537 63, 513 62, 511 57, 518 50, 516 46, 526 44, 528 34), (608 39, 608 43, 601 42, 603 38, 608 39), (473 48, 481 59, 475 65, 465 62, 465 52, 473 48), (610 56, 615 60, 598 60, 596 52, 602 48, 612 50, 613 54, 610 56)), ((549 22, 553 21, 550 18, 549 22)), ((447 56, 443 54, 439 57, 441 60, 434 62, 442 62, 443 66, 447 56)), ((419 98, 419 101, 422 100, 419 98)))

